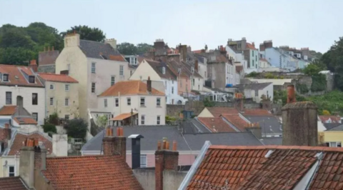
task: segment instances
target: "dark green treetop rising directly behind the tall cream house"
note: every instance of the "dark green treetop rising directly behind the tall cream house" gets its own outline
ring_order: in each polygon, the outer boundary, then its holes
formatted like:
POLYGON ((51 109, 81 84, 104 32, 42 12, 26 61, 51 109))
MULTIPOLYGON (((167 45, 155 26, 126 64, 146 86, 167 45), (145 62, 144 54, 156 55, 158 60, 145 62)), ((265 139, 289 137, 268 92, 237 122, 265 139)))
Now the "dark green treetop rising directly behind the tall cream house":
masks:
POLYGON ((101 41, 106 39, 106 34, 104 31, 98 28, 91 28, 89 26, 72 26, 71 29, 66 32, 61 32, 61 36, 64 37, 66 34, 71 34, 73 32, 80 34, 80 39, 90 40, 90 41, 101 41))

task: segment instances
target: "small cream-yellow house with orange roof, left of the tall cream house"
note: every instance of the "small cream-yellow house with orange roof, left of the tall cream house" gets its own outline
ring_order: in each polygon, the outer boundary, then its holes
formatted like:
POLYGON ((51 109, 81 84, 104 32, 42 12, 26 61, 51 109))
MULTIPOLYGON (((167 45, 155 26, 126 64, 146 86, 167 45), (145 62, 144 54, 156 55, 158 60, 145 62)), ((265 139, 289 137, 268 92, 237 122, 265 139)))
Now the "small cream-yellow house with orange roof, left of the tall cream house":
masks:
POLYGON ((64 74, 39 74, 44 83, 46 116, 58 114, 66 120, 79 116, 79 82, 64 74))

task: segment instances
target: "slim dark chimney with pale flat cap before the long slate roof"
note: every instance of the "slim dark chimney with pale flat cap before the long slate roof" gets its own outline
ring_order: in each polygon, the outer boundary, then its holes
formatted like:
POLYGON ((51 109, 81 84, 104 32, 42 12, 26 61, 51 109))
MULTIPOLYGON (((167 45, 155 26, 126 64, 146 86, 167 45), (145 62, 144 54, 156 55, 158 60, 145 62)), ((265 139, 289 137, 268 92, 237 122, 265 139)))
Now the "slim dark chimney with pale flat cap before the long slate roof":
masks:
POLYGON ((131 154, 132 154, 132 169, 138 169, 141 167, 141 139, 144 136, 140 134, 131 134, 129 137, 131 139, 131 154))

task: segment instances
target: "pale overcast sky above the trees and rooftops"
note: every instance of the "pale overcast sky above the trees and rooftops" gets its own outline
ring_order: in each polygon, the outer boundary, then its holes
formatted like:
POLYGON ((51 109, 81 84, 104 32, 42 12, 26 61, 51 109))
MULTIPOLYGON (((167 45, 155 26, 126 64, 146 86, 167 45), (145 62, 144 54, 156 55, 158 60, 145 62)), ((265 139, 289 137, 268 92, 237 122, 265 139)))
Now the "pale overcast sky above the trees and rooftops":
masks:
POLYGON ((0 0, 0 25, 98 27, 118 43, 164 39, 202 49, 242 39, 322 53, 343 36, 342 0, 0 0))

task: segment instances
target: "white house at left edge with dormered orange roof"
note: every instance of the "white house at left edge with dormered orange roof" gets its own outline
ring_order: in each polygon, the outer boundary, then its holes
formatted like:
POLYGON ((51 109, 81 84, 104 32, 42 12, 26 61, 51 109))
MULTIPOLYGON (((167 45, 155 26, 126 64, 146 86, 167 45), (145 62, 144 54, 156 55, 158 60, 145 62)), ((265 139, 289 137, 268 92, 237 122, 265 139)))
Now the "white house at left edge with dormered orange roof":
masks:
POLYGON ((0 107, 24 107, 38 124, 44 124, 45 88, 36 69, 36 60, 30 66, 0 65, 0 107))

